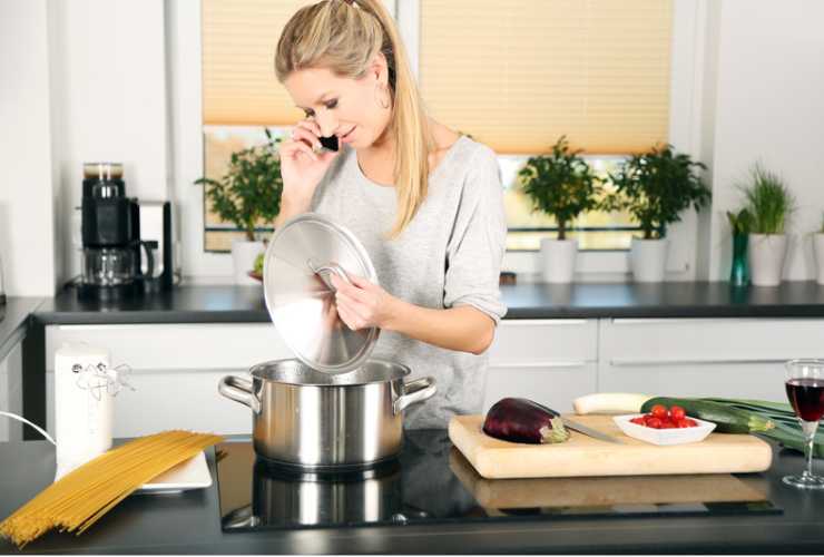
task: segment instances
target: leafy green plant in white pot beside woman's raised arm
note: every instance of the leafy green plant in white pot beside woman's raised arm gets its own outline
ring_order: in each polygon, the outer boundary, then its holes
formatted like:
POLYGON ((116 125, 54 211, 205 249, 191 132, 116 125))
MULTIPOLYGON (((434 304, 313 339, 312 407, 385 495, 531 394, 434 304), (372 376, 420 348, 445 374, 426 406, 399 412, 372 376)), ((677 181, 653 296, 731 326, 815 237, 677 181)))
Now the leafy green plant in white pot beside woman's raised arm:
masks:
POLYGON ((275 219, 281 211, 279 139, 266 129, 267 141, 232 154, 228 169, 219 179, 199 178, 206 186, 210 207, 223 221, 234 223, 245 233, 232 242, 232 261, 237 284, 256 284, 249 276, 255 257, 264 251, 257 228, 275 219))

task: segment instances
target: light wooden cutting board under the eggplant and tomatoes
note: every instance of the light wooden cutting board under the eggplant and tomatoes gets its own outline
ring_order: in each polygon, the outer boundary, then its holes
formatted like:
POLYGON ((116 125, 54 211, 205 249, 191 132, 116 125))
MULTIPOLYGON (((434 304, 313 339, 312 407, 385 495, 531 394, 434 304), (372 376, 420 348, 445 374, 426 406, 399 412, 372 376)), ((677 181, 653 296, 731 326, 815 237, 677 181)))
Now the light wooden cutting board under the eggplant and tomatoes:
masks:
POLYGON ((659 447, 625 436, 610 416, 569 418, 622 443, 572 430, 569 440, 558 444, 512 443, 483 433, 482 416, 452 418, 449 438, 484 478, 759 472, 773 460, 769 444, 754 436, 710 433, 697 443, 659 447))

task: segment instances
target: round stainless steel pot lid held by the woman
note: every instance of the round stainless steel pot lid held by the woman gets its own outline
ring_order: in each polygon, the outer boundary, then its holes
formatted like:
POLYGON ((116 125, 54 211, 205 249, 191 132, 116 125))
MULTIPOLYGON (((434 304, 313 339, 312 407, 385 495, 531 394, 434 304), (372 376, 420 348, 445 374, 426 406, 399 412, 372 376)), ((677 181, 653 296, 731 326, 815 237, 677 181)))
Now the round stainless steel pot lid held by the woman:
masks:
POLYGON ((331 273, 377 283, 372 261, 354 234, 323 215, 298 215, 272 236, 263 266, 272 322, 304 364, 345 373, 366 361, 380 330, 352 331, 341 321, 331 273))

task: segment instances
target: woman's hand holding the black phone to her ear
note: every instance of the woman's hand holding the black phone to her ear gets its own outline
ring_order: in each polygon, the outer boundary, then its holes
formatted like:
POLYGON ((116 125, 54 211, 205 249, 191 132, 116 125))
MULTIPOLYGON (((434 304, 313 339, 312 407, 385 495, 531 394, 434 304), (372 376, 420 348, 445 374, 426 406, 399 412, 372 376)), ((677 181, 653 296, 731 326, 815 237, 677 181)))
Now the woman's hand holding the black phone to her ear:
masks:
POLYGON ((321 127, 312 119, 297 123, 292 139, 279 147, 283 199, 298 211, 307 211, 312 196, 340 152, 317 152, 321 127))

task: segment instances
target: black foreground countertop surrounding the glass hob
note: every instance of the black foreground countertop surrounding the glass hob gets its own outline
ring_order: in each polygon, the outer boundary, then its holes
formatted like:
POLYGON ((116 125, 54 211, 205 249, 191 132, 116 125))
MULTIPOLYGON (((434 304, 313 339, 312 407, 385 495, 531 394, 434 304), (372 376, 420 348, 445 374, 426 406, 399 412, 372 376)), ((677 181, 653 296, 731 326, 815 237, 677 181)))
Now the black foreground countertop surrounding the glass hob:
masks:
MULTIPOLYGON (((418 431, 426 458, 450 457, 445 432, 418 431)), ((404 455, 408 449, 404 449, 404 455)), ((783 514, 658 516, 654 518, 513 517, 506 521, 458 520, 425 525, 313 528, 224 532, 218 488, 177 495, 133 496, 79 537, 51 532, 24 553, 85 554, 784 554, 824 551, 824 494, 805 492, 781 481, 803 466, 800 455, 774 447, 773 467, 738 475, 783 514)), ((214 452, 207 451, 213 477, 214 452)), ((402 465, 403 456, 402 456, 402 465)), ((818 473, 822 462, 816 461, 818 473)), ((0 518, 48 486, 53 448, 46 441, 0 443, 0 518)), ((425 472, 425 470, 424 470, 425 472)), ((447 480, 461 483, 455 477, 447 480)), ((509 480, 512 481, 512 480, 509 480)), ((516 480, 530 481, 530 480, 516 480)), ((581 478, 580 481, 588 481, 581 478)), ((435 479, 433 483, 442 482, 435 479)), ((469 494, 469 492, 467 492, 469 494)), ((430 490, 426 497, 451 505, 454 492, 430 490)), ((17 553, 0 540, 0 553, 17 553)))

